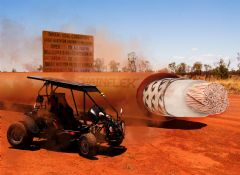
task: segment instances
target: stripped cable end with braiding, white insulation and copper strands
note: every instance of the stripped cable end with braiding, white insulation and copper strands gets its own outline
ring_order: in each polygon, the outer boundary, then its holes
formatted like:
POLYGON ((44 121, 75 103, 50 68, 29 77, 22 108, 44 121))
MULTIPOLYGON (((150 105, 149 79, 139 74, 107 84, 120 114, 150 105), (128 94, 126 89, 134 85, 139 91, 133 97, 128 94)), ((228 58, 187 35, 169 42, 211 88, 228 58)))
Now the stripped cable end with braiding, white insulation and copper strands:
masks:
POLYGON ((150 113, 169 117, 204 117, 222 113, 228 106, 222 85, 184 78, 152 81, 142 100, 150 113))

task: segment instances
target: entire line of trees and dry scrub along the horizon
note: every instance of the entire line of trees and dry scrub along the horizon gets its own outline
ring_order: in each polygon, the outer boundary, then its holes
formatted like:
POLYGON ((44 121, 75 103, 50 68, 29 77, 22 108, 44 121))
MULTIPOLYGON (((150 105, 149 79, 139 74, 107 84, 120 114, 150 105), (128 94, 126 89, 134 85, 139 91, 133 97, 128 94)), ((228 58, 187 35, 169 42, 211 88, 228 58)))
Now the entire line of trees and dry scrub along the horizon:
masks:
MULTIPOLYGON (((214 66, 203 64, 200 61, 193 65, 185 62, 168 64, 168 69, 153 70, 151 63, 147 58, 138 57, 135 52, 128 54, 127 60, 123 65, 112 59, 106 61, 104 58, 95 58, 93 62, 93 72, 160 72, 170 71, 181 77, 190 79, 201 79, 210 82, 217 82, 225 86, 230 94, 240 95, 240 53, 238 53, 237 69, 230 69, 231 62, 225 62, 220 58, 214 66)), ((43 66, 28 65, 31 72, 42 72, 43 66)), ((0 71, 1 72, 1 71, 0 71)), ((6 72, 6 71, 2 71, 6 72)), ((17 72, 15 68, 12 72, 17 72)))

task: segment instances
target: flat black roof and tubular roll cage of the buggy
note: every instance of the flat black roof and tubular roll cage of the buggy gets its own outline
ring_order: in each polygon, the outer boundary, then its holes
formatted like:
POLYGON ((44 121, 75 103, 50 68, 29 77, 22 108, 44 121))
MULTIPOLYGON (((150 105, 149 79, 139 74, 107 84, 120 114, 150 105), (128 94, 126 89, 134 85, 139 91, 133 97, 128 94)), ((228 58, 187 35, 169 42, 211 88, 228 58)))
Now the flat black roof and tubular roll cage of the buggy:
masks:
MULTIPOLYGON (((46 94, 45 95, 41 95, 41 96, 47 97, 48 100, 49 100, 50 95, 52 93, 55 93, 55 91, 59 87, 65 88, 65 89, 70 89, 77 116, 79 116, 79 112, 78 112, 78 109, 77 109, 77 104, 76 104, 76 100, 75 100, 75 97, 74 97, 74 94, 73 94, 73 90, 83 92, 83 113, 84 113, 84 116, 86 114, 86 95, 90 98, 90 100, 94 103, 94 105, 96 105, 96 106, 98 106, 100 108, 100 106, 96 103, 96 101, 88 93, 88 92, 97 92, 105 99, 107 104, 116 113, 117 119, 119 119, 118 111, 107 100, 105 94, 102 93, 95 85, 83 84, 83 83, 78 83, 78 82, 73 82, 73 81, 67 81, 67 80, 62 80, 62 79, 50 78, 50 77, 28 76, 27 78, 44 81, 43 86, 38 91, 38 95, 40 95, 40 92, 45 88, 46 94), (50 86, 50 93, 48 92, 49 91, 48 90, 49 86, 50 86)), ((84 122, 86 123, 85 117, 84 117, 84 122)))

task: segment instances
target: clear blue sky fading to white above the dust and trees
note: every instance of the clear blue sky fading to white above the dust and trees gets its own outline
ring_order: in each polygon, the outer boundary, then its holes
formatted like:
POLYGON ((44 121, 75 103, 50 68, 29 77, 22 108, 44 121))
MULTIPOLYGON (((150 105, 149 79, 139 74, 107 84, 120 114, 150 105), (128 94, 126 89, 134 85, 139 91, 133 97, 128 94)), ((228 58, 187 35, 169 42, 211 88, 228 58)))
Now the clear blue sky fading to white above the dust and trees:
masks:
POLYGON ((104 29, 108 40, 137 42, 136 53, 155 68, 171 61, 214 63, 220 57, 235 67, 240 52, 238 0, 0 0, 0 20, 16 23, 27 36, 104 29))

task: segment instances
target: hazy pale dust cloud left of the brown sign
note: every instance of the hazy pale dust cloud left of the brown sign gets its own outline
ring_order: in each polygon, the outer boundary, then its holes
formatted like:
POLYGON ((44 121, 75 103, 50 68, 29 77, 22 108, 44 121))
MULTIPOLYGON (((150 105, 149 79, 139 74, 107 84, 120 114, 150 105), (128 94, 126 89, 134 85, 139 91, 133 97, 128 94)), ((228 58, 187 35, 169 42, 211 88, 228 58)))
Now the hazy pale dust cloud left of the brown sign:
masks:
POLYGON ((28 34, 26 28, 9 19, 0 21, 0 70, 31 71, 41 64, 41 37, 28 34))

